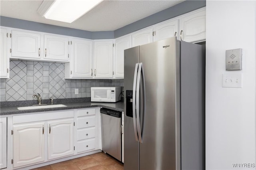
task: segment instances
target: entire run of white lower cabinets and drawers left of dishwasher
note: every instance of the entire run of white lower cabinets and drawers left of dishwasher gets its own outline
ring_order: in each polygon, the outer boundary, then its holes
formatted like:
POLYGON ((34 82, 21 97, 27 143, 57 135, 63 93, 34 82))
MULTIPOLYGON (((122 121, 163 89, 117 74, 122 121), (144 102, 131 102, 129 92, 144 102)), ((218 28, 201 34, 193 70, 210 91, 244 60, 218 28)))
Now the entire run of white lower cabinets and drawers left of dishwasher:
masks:
POLYGON ((1 115, 0 168, 32 169, 102 152, 100 107, 1 115))

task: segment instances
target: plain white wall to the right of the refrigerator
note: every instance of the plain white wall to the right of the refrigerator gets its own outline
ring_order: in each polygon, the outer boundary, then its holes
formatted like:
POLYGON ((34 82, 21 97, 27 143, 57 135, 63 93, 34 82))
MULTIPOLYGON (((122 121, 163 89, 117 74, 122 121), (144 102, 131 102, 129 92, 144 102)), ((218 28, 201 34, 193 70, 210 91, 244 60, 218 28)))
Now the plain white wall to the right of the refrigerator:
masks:
POLYGON ((206 169, 255 164, 255 0, 206 1, 206 169), (242 48, 242 71, 225 70, 225 51, 242 48), (242 88, 222 87, 242 73, 242 88))

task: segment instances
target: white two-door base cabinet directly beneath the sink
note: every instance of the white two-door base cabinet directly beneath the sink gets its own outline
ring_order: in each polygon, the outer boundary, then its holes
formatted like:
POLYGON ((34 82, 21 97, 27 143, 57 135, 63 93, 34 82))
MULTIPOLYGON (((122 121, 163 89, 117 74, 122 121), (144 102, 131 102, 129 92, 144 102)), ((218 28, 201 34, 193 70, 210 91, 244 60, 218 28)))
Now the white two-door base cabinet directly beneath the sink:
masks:
POLYGON ((74 154, 74 110, 18 115, 12 122, 13 168, 74 154))

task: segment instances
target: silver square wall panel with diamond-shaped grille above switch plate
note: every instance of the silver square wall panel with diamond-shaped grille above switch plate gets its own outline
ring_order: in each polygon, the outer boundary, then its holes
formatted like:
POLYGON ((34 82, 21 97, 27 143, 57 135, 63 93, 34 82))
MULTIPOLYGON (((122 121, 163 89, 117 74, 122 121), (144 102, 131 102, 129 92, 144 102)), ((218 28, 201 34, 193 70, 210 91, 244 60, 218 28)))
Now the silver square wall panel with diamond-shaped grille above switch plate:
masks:
POLYGON ((226 70, 242 70, 242 48, 226 50, 226 70))

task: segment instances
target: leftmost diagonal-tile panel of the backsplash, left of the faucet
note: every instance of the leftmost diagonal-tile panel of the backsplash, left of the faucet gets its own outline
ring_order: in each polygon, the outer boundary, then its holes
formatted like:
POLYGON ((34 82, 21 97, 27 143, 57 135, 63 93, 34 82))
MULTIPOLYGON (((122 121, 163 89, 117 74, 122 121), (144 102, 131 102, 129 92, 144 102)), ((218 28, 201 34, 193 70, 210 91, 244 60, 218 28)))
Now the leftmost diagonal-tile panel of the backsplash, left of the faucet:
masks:
POLYGON ((6 101, 22 101, 27 99, 27 63, 26 61, 10 61, 10 79, 6 79, 6 101))

